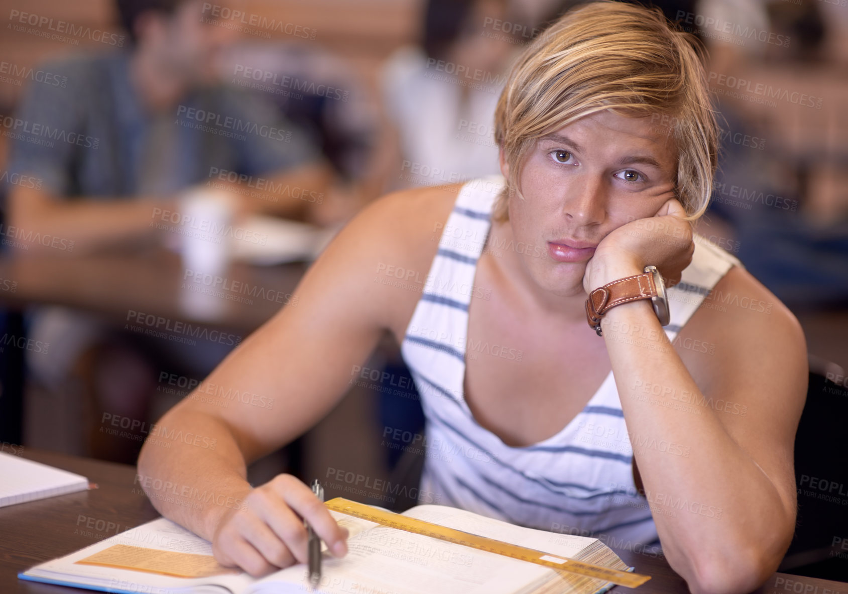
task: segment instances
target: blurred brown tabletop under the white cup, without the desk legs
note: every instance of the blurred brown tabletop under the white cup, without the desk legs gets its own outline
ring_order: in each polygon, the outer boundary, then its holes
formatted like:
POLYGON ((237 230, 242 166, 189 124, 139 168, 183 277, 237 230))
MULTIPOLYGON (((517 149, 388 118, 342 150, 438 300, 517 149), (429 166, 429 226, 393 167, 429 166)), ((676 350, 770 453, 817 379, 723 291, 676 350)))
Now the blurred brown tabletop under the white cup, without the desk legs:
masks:
POLYGON ((128 322, 131 311, 172 323, 253 332, 291 299, 307 264, 232 264, 220 275, 189 274, 166 251, 120 255, 15 255, 0 259, 0 302, 62 305, 128 322), (218 279, 215 276, 219 277, 218 279))

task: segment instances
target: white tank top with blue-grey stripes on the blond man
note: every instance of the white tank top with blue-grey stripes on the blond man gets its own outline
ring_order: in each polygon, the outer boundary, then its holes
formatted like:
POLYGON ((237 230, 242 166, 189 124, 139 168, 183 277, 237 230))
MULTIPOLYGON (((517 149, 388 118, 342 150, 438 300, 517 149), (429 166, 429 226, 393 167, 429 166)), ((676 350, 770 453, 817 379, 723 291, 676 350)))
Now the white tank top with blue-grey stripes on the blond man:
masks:
MULTIPOLYGON (((492 176, 460 189, 401 344, 426 418, 419 502, 656 552, 656 526, 633 483, 633 446, 611 372, 577 417, 533 446, 506 446, 466 404, 468 307, 472 296, 485 298, 474 274, 503 187, 504 178, 492 176)), ((672 320, 664 329, 672 342, 700 305, 711 305, 703 303, 706 295, 734 265, 734 256, 696 238, 683 281, 668 289, 672 320)))

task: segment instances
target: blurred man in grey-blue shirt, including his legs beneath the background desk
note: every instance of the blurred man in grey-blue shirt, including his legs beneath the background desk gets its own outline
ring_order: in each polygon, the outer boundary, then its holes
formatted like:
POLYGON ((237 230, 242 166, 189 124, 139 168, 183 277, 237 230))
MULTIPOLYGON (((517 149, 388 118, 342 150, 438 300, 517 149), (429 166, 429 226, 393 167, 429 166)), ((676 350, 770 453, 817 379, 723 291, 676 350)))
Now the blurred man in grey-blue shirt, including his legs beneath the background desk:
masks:
MULTIPOLYGON (((201 2, 118 0, 118 8, 129 48, 63 59, 50 70, 66 77, 64 87, 28 89, 20 120, 31 129, 58 130, 69 142, 33 142, 39 139, 31 134, 13 143, 10 171, 41 182, 9 189, 8 225, 64 238, 78 254, 173 243, 174 237, 157 237, 154 209, 179 211, 178 197, 202 187, 214 171, 326 193, 333 172, 313 139, 248 92, 216 83, 215 59, 232 32, 209 24, 201 2)), ((321 208, 300 193, 272 198, 232 195, 237 211, 310 220, 321 208)), ((34 313, 31 336, 53 345, 49 355, 29 361, 39 384, 68 398, 94 395, 89 453, 123 460, 131 453, 120 448, 136 444, 98 441, 98 411, 145 418, 155 385, 153 354, 166 357, 171 369, 205 374, 232 348, 145 344, 137 335, 110 332, 95 317, 56 307, 34 313)))

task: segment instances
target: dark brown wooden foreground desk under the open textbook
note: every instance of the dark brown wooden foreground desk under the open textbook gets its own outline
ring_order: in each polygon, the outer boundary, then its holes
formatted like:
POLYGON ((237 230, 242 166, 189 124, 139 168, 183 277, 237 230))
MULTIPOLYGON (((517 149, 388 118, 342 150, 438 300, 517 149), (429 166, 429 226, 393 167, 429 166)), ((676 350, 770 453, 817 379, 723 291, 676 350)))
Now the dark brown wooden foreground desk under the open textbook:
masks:
MULTIPOLYGON (((25 451, 24 456, 84 474, 99 489, 81 493, 52 497, 38 502, 0 507, 0 591, 3 594, 39 592, 42 594, 81 591, 64 586, 48 586, 18 580, 20 571, 38 563, 61 557, 70 552, 92 545, 116 532, 128 530, 158 517, 158 513, 147 497, 133 493, 135 468, 111 462, 100 462, 80 457, 65 456, 44 451, 25 451), (89 518, 91 522, 89 522, 89 518), (113 523, 108 530, 90 529, 86 524, 113 523)), ((652 579, 638 590, 617 587, 616 592, 638 591, 639 594, 671 594, 686 592, 685 582, 675 574, 662 558, 650 558, 628 551, 617 551, 618 555, 633 565, 639 573, 649 574, 652 579)), ((779 594, 793 591, 785 589, 792 580, 810 586, 804 590, 795 586, 795 591, 816 594, 848 594, 848 584, 827 580, 814 580, 794 575, 774 574, 757 592, 779 594), (783 581, 781 581, 783 580, 783 581), (777 583, 777 586, 774 586, 777 583), (829 591, 826 590, 829 588, 829 591)))

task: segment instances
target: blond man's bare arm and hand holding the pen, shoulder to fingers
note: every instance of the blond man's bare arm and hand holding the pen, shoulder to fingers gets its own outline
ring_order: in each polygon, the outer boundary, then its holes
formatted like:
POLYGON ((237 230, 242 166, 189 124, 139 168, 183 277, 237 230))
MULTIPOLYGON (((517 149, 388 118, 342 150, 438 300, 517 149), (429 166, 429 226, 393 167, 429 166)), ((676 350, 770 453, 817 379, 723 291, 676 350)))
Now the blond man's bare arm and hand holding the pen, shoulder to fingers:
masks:
POLYGON ((222 563, 258 575, 303 561, 298 516, 331 546, 343 540, 305 485, 281 475, 251 490, 246 467, 320 420, 388 327, 396 295, 372 278, 377 262, 403 262, 415 244, 408 201, 388 196, 360 213, 310 267, 292 303, 159 421, 165 434, 194 435, 191 443, 163 443, 157 429, 143 446, 139 481, 154 506, 212 541, 222 563), (214 450, 193 445, 204 438, 215 440, 214 450))

